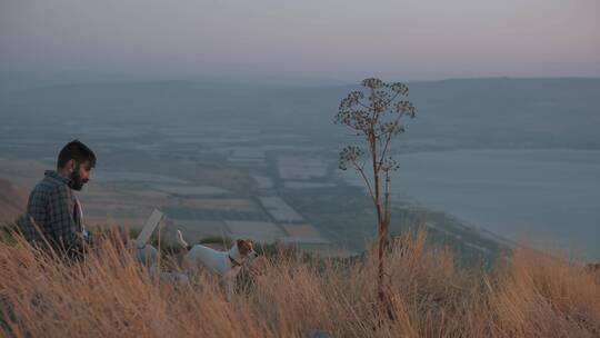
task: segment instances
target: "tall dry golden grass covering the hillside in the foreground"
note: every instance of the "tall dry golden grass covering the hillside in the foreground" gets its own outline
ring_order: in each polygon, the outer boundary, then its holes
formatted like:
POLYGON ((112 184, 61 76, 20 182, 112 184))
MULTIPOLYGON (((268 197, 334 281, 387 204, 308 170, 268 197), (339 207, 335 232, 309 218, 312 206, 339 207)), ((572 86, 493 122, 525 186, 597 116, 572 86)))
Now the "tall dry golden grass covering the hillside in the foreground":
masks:
POLYGON ((459 269, 424 232, 386 258, 397 320, 377 306, 372 257, 356 264, 294 255, 262 258, 224 301, 206 274, 192 284, 149 275, 121 241, 82 264, 0 242, 0 334, 14 337, 599 337, 596 272, 519 250, 494 271, 459 269))

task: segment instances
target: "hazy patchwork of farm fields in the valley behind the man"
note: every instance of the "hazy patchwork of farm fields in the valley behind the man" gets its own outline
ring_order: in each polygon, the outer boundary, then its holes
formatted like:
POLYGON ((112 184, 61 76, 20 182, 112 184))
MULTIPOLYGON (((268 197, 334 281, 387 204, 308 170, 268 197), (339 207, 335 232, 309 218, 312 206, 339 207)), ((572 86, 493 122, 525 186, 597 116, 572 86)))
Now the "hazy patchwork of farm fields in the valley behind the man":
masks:
MULTIPOLYGON (((162 228, 166 236, 181 228, 190 242, 248 237, 328 256, 366 248, 374 231, 372 206, 360 188, 349 186, 337 172, 334 147, 294 132, 266 135, 247 126, 202 128, 202 136, 174 126, 86 130, 99 158, 92 180, 78 193, 87 223, 139 228, 157 208, 168 220, 162 228)), ((53 168, 51 156, 60 147, 60 133, 50 133, 46 143, 34 138, 13 142, 11 135, 19 131, 17 126, 0 137, 14 146, 0 159, 0 178, 29 191, 43 170, 53 168)), ((414 213, 418 217, 403 213, 393 231, 427 223, 429 217, 421 211, 414 213)))

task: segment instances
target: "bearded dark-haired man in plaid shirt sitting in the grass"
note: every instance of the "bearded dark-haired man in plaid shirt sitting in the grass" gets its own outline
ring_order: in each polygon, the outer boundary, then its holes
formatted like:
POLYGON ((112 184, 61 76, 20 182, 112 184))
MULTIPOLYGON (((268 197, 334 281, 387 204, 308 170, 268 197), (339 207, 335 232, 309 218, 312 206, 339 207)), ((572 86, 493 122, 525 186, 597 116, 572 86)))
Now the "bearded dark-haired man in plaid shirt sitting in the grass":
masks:
POLYGON ((73 190, 83 188, 94 166, 96 155, 82 142, 73 140, 62 148, 57 170, 44 172, 29 196, 26 219, 19 222, 30 243, 42 248, 49 243, 59 254, 81 257, 91 236, 73 190))

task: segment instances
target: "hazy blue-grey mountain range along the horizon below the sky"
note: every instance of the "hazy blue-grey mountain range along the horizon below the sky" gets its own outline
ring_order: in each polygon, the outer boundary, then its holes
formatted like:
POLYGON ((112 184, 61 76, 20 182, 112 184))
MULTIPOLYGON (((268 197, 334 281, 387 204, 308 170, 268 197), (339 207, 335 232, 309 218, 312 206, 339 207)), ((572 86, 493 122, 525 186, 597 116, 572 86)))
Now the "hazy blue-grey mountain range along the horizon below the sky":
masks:
MULTIPOLYGON (((600 147, 600 79, 457 79, 409 87, 418 108, 410 140, 440 147, 600 147)), ((331 130, 340 100, 356 89, 183 80, 57 84, 4 92, 0 116, 331 130)))

